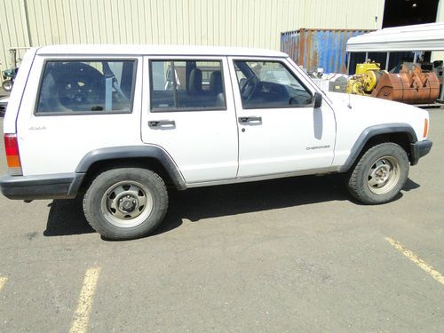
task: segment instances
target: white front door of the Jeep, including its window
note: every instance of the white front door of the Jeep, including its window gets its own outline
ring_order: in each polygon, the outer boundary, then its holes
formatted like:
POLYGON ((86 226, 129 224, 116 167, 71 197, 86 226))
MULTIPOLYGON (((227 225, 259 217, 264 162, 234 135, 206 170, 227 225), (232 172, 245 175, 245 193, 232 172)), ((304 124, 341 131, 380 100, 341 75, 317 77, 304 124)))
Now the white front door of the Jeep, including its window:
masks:
POLYGON ((238 177, 327 170, 336 123, 286 59, 229 58, 238 110, 238 177), (290 69, 291 68, 291 69, 290 69))

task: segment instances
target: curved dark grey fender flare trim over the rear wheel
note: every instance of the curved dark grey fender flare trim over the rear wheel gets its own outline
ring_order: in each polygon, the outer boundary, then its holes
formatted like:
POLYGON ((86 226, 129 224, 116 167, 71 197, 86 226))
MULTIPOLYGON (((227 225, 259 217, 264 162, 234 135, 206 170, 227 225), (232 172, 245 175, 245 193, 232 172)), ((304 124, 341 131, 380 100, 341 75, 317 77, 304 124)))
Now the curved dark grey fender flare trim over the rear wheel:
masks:
POLYGON ((100 161, 139 157, 155 158, 163 165, 163 168, 168 172, 168 175, 178 190, 186 189, 185 180, 179 172, 176 163, 173 162, 170 155, 168 155, 161 147, 154 145, 107 147, 92 150, 87 155, 84 155, 82 161, 80 161, 75 169, 75 172, 86 173, 93 163, 100 161))

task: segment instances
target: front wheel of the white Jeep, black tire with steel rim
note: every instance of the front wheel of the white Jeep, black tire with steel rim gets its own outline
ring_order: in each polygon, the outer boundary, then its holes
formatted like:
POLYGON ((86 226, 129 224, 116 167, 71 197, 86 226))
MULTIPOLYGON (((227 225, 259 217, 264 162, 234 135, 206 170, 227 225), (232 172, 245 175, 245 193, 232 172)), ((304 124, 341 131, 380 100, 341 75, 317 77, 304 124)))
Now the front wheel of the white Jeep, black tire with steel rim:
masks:
POLYGON ((349 173, 348 191, 365 204, 390 202, 406 183, 408 168, 408 156, 399 145, 371 147, 349 173))

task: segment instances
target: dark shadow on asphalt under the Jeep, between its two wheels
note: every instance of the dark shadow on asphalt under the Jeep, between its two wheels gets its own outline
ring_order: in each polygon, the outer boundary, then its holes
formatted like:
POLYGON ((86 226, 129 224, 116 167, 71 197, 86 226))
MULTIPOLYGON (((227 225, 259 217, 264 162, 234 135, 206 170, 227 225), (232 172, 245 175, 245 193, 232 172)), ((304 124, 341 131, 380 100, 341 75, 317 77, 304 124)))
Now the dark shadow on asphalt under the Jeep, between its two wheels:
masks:
POLYGON ((348 200, 344 182, 341 175, 281 178, 189 189, 173 193, 171 201, 178 208, 179 218, 197 222, 203 218, 348 200))

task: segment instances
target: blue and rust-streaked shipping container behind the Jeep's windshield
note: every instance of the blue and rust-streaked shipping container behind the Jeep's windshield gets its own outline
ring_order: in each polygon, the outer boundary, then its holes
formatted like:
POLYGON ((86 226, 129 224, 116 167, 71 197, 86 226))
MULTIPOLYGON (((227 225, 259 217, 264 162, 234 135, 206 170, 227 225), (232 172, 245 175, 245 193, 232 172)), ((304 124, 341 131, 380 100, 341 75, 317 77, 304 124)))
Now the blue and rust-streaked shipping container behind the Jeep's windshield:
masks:
POLYGON ((283 32, 281 51, 309 73, 322 68, 324 73, 347 74, 347 40, 370 31, 373 30, 303 28, 283 32))

